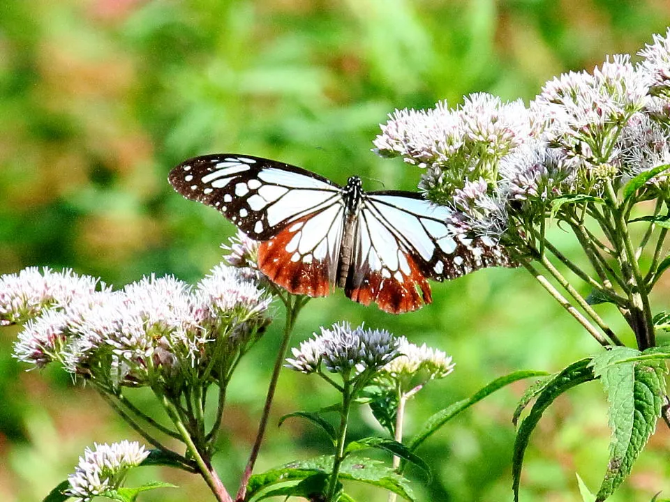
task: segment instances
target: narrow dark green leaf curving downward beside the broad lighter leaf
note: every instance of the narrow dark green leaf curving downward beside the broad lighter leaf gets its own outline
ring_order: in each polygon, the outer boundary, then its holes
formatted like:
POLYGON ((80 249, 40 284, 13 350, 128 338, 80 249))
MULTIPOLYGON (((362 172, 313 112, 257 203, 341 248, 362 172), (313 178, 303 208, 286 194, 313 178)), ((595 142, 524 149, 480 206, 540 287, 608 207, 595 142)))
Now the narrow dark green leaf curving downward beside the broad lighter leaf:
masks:
POLYGON ((542 391, 537 395, 537 400, 530 409, 528 416, 521 420, 519 430, 514 439, 514 454, 512 455, 512 490, 514 491, 514 501, 519 501, 519 482, 521 480, 521 466, 523 464, 523 455, 526 452, 530 433, 535 429, 535 425, 542 418, 544 410, 556 400, 556 397, 563 394, 566 390, 578 386, 580 383, 591 381, 595 378, 593 370, 590 367, 591 358, 584 358, 572 363, 562 372, 554 375, 546 382, 542 391))

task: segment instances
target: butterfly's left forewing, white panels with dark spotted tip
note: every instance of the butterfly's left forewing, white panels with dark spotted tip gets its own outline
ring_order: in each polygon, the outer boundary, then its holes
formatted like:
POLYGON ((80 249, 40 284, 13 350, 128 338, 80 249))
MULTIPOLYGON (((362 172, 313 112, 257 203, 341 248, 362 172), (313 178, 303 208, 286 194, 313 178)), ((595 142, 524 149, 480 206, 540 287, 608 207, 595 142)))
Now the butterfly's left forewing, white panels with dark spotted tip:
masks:
POLYGON ((306 169, 250 155, 204 155, 172 169, 177 192, 265 241, 291 222, 342 204, 342 189, 306 169))

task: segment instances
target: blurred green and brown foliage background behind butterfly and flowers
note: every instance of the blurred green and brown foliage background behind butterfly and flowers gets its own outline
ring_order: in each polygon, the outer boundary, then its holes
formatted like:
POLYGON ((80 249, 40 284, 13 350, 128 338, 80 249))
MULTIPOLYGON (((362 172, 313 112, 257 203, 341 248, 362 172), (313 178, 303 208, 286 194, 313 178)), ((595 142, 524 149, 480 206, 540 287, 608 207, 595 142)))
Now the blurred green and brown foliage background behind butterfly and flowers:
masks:
MULTIPOLYGON (((670 22, 666 0, 3 0, 0 2, 0 273, 73 267, 117 287, 152 272, 195 282, 234 228, 166 181, 182 160, 237 152, 290 162, 368 189, 415 188, 419 172, 370 152, 394 108, 457 105, 475 91, 533 98, 566 70, 634 54, 670 22)), ((556 236, 563 235, 554 229, 556 236)), ((576 247, 565 242, 567 252, 576 247)), ((667 307, 667 287, 655 298, 667 307)), ((434 411, 521 369, 556 371, 597 344, 523 271, 480 271, 433 284, 433 305, 392 317, 341 292, 312 301, 295 343, 346 319, 428 342, 456 370, 410 404, 408 435, 434 411)), ((613 325, 616 314, 603 309, 613 325)), ((241 365, 215 464, 236 489, 253 441, 283 312, 241 365)), ((0 499, 41 500, 94 441, 139 439, 63 372, 24 372, 0 331, 0 499)), ((630 340, 630 335, 623 337, 630 340)), ((425 501, 510 499, 516 399, 500 391, 450 423, 410 471, 425 501)), ((145 399, 143 395, 137 397, 145 399)), ((335 396, 314 378, 281 377, 258 469, 327 451, 311 425, 283 413, 335 396)), ((373 421, 356 416, 352 436, 373 421)), ((575 472, 597 489, 609 429, 597 383, 561 397, 533 436, 523 501, 579 499, 575 472)), ((670 434, 660 427, 612 501, 670 496, 670 434)), ((146 501, 211 500, 204 482, 147 468, 134 482, 180 485, 146 501)), ((360 500, 386 494, 352 488, 360 500)))

